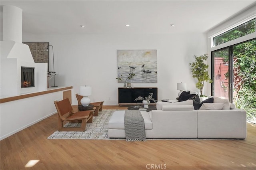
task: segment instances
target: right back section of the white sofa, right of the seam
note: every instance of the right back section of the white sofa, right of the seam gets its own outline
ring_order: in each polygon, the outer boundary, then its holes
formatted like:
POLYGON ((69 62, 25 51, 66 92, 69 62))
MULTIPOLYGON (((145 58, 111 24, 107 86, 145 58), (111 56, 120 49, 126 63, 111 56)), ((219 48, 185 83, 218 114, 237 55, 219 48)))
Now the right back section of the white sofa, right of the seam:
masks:
POLYGON ((197 110, 198 138, 246 138, 246 111, 197 110))

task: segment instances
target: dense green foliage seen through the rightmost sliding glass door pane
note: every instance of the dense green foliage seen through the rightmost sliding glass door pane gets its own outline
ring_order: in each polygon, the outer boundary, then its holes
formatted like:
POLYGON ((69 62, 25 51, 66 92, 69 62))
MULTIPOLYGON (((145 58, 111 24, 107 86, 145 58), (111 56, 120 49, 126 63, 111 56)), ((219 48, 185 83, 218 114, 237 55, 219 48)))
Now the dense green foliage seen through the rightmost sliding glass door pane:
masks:
POLYGON ((256 117, 256 40, 235 45, 233 55, 234 102, 238 108, 244 103, 247 118, 256 117))

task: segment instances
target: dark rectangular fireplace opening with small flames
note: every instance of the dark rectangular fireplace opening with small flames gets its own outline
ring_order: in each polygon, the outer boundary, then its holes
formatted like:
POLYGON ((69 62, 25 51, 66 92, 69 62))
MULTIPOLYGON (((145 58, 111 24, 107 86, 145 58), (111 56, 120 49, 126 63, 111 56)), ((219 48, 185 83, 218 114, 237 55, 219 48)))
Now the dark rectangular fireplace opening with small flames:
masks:
POLYGON ((35 87, 34 67, 21 67, 21 88, 35 87))

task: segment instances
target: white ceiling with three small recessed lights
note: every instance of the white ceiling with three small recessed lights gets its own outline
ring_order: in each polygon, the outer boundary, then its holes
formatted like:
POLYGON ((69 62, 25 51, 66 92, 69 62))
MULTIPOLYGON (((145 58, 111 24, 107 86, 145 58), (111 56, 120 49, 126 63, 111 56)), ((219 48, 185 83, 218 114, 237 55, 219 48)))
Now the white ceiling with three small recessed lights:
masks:
POLYGON ((252 4, 255 0, 1 0, 1 6, 23 10, 23 34, 207 32, 252 4))

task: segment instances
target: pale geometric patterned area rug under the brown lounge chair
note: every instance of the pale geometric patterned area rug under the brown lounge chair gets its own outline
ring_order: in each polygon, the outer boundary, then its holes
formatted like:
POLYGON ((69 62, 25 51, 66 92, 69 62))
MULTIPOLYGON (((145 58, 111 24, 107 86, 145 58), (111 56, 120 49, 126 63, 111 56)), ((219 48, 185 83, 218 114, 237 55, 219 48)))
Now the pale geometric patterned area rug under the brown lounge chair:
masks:
MULTIPOLYGON (((86 131, 55 131, 47 139, 105 139, 108 137, 108 121, 114 111, 113 109, 105 109, 98 113, 98 116, 93 117, 92 123, 86 123, 86 131)), ((64 127, 80 127, 81 123, 67 123, 64 127)), ((115 138, 117 139, 117 138, 115 138)), ((123 140, 125 140, 123 138, 123 140)))

